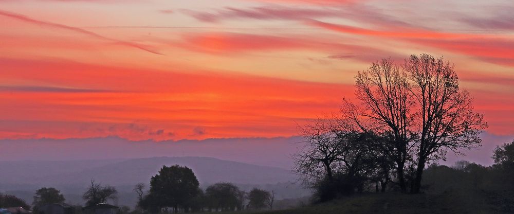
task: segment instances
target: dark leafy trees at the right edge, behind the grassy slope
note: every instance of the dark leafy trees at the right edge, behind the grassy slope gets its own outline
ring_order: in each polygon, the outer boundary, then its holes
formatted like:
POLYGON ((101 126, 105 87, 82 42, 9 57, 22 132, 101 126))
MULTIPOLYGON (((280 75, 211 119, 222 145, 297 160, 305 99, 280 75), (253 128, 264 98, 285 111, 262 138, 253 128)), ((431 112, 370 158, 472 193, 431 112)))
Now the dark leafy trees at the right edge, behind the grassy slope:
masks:
POLYGON ((514 140, 497 146, 492 159, 494 164, 487 167, 468 161, 430 165, 423 186, 429 193, 461 192, 485 199, 499 213, 514 213, 514 140))

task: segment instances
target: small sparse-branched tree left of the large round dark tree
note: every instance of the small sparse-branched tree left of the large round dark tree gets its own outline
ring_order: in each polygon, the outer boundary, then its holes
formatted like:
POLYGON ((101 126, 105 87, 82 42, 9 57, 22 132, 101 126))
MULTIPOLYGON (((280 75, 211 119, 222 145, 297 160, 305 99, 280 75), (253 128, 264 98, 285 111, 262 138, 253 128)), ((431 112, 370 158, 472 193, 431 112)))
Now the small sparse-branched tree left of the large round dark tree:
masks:
POLYGON ((91 185, 84 192, 82 198, 86 200, 86 206, 106 203, 109 199, 115 200, 118 198, 118 190, 112 186, 95 184, 95 180, 91 180, 91 185))

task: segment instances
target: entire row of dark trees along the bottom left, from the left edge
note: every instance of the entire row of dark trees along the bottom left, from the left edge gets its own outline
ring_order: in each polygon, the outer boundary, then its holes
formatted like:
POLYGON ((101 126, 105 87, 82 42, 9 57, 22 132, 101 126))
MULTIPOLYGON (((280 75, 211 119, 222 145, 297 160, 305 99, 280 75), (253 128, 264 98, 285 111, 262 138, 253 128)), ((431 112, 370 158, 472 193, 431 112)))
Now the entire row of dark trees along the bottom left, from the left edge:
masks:
MULTIPOLYGON (((134 187, 138 203, 136 209, 122 206, 119 214, 127 213, 176 213, 199 211, 235 211, 273 209, 275 192, 253 188, 249 192, 239 189, 231 183, 216 183, 208 186, 205 191, 193 171, 186 166, 162 166, 158 174, 152 176, 150 189, 138 183, 134 187)), ((115 187, 102 185, 91 180, 82 195, 85 206, 115 201, 118 191, 115 187)), ((53 187, 36 190, 32 209, 41 213, 40 208, 48 204, 65 204, 64 195, 53 187)), ((0 207, 23 207, 30 210, 31 206, 14 195, 0 194, 0 207)), ((75 213, 81 213, 81 206, 74 206, 75 213)))

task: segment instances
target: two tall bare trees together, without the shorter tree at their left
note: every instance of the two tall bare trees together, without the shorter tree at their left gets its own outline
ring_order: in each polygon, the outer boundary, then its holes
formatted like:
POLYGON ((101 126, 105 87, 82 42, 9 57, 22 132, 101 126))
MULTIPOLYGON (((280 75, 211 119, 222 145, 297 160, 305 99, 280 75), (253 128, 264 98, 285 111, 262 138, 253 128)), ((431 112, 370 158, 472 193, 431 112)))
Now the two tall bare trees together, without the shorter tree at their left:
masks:
POLYGON ((473 111, 473 99, 459 88, 453 65, 443 58, 412 55, 401 69, 383 59, 355 79, 360 104, 345 100, 342 111, 361 130, 384 136, 379 146, 395 162, 402 192, 407 191, 408 162, 414 165, 411 192, 418 193, 428 162, 480 145, 478 135, 487 124, 473 111))

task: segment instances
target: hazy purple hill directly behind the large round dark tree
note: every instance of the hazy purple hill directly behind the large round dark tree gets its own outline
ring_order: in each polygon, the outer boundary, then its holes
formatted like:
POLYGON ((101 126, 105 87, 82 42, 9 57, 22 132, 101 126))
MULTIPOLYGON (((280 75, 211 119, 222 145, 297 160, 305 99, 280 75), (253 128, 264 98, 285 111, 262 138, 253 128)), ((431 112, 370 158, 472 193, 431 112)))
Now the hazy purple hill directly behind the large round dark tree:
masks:
POLYGON ((94 161, 4 161, 0 162, 0 172, 4 175, 0 176, 0 188, 10 184, 87 185, 91 179, 108 185, 134 185, 148 183, 163 165, 187 166, 193 169, 200 183, 205 184, 271 184, 295 180, 290 170, 278 167, 212 157, 149 157, 94 161))

